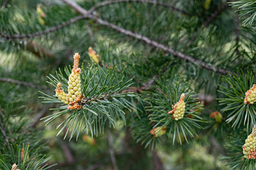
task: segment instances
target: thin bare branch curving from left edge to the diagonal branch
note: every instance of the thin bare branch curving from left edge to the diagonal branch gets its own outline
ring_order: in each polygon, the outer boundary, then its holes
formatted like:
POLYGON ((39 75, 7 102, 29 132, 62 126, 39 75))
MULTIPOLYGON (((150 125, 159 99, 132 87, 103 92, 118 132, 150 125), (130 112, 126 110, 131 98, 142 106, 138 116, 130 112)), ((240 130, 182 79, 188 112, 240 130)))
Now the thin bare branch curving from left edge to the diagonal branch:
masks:
POLYGON ((65 26, 69 26, 72 23, 75 23, 76 21, 82 20, 84 18, 86 18, 86 17, 85 16, 77 16, 75 18, 70 19, 70 21, 67 21, 65 23, 60 23, 60 25, 58 25, 58 26, 49 28, 47 30, 39 31, 37 33, 30 33, 30 34, 26 34, 26 35, 6 35, 5 33, 0 33, 0 37, 4 38, 6 40, 22 40, 24 38, 36 38, 41 35, 52 33, 55 30, 60 30, 61 28, 64 28, 65 26))

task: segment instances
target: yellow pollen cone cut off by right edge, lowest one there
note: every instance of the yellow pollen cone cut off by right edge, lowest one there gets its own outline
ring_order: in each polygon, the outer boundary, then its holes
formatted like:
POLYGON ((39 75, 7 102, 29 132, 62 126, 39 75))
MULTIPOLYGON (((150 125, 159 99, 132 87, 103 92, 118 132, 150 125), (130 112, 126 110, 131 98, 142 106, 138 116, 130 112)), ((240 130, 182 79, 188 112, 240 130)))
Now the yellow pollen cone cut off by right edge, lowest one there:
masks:
POLYGON ((243 154, 247 159, 256 159, 256 126, 253 126, 252 133, 248 135, 247 139, 245 140, 245 145, 242 146, 243 154))

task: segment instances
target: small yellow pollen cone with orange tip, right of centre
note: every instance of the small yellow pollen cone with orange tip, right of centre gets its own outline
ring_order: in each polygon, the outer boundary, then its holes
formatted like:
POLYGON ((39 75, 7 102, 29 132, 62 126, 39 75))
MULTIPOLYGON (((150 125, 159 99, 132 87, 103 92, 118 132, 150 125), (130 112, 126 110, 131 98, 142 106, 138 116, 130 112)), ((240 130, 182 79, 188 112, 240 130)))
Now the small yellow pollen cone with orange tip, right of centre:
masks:
POLYGON ((185 94, 181 94, 180 100, 174 106, 172 106, 173 110, 168 112, 169 114, 173 113, 173 118, 175 120, 180 120, 184 116, 184 113, 185 113, 184 98, 185 98, 185 94))

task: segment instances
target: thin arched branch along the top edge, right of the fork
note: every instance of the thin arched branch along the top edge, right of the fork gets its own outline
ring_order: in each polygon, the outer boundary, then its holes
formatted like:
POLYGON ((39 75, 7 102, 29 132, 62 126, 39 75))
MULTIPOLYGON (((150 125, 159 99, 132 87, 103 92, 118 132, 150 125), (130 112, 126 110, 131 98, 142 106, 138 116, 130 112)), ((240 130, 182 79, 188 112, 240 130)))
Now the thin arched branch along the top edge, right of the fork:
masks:
POLYGON ((89 9, 88 13, 92 13, 95 11, 97 8, 100 8, 102 6, 107 6, 109 4, 114 4, 114 3, 122 3, 122 2, 139 2, 139 3, 147 3, 147 4, 156 4, 158 6, 164 6, 166 8, 171 8, 173 11, 178 11, 180 13, 183 13, 184 15, 189 15, 186 11, 183 11, 179 8, 176 8, 175 6, 172 6, 167 3, 161 3, 159 1, 149 1, 149 0, 110 0, 110 1, 102 1, 95 6, 92 6, 92 8, 89 9))

